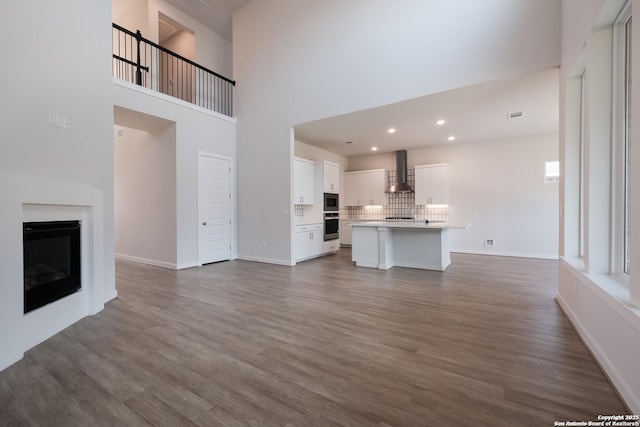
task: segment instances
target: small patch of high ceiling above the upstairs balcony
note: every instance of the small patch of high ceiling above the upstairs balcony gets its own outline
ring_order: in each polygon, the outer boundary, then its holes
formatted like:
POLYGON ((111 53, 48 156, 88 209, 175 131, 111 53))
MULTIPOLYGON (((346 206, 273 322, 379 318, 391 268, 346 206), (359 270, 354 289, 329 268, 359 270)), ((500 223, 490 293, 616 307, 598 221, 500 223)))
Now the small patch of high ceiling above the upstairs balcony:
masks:
POLYGON ((169 0, 189 16, 231 40, 231 15, 251 0, 169 0))

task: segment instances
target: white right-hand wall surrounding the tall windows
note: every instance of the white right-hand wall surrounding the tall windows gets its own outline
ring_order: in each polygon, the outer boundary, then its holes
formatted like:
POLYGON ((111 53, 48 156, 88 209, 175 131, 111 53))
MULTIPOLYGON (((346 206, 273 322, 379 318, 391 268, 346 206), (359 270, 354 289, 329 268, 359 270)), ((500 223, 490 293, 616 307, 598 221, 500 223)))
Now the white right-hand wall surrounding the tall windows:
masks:
MULTIPOLYGON (((560 204, 570 217, 560 223, 562 236, 560 278, 557 300, 574 324, 582 340, 625 400, 631 413, 640 413, 640 308, 632 304, 630 289, 640 289, 640 275, 634 274, 640 265, 640 210, 631 205, 631 277, 630 288, 622 285, 611 272, 610 177, 611 148, 611 30, 624 1, 563 0, 562 3, 562 65, 560 75, 560 152, 562 177, 560 204), (603 27, 605 26, 605 27, 603 27), (582 65, 581 65, 582 64, 582 65), (578 258, 578 170, 576 149, 579 92, 575 71, 586 66, 589 73, 585 127, 588 159, 585 174, 587 204, 585 219, 585 256, 578 258)), ((640 11, 640 1, 633 0, 633 13, 640 11)), ((640 73, 640 31, 634 26, 633 76, 640 73)), ((579 85, 579 83, 578 83, 579 85)), ((632 129, 640 129, 640 89, 632 89, 632 129)), ((632 132, 633 162, 631 170, 640 170, 636 148, 638 132, 632 132)), ((640 200, 640 174, 631 174, 632 200, 640 200)), ((638 299, 640 301, 640 298, 638 299)))

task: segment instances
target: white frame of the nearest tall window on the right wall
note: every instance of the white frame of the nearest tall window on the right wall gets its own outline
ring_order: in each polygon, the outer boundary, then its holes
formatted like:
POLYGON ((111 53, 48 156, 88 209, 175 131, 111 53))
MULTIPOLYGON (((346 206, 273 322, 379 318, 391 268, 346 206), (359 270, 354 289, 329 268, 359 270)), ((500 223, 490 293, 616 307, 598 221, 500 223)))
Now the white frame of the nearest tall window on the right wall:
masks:
POLYGON ((626 140, 627 101, 630 93, 626 93, 626 59, 627 59, 627 22, 631 20, 631 2, 622 9, 614 23, 613 51, 613 156, 612 156, 612 191, 611 191, 611 266, 612 275, 629 286, 630 276, 625 271, 627 251, 627 215, 626 209, 626 140))

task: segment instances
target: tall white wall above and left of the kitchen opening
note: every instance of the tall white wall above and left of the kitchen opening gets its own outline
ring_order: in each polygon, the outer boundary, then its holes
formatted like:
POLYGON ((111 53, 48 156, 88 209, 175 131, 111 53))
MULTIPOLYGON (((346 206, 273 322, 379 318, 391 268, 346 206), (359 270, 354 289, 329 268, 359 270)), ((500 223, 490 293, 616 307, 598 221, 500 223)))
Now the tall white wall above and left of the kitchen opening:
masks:
POLYGON ((291 195, 282 191, 291 182, 290 126, 557 66, 559 8, 555 0, 273 0, 237 11, 242 256, 292 259, 291 195))

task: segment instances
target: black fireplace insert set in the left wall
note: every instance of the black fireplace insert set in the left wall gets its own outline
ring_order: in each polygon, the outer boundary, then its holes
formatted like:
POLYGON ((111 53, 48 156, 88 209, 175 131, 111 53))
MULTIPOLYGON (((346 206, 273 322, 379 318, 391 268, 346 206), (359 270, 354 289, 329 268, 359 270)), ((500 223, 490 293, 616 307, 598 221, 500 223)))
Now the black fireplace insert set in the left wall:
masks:
POLYGON ((80 221, 23 223, 24 313, 81 288, 80 221))

